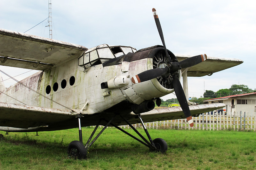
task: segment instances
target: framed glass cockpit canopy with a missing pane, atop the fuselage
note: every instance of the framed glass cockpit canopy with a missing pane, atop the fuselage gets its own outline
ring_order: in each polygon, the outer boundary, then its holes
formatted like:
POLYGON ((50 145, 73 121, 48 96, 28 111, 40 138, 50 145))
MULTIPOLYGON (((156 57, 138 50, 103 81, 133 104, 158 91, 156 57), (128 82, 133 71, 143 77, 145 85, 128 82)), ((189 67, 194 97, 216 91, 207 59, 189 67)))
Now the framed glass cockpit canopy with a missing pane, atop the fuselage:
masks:
POLYGON ((102 44, 90 48, 84 52, 84 55, 78 58, 78 65, 88 69, 91 66, 102 64, 112 58, 125 55, 129 52, 135 53, 137 50, 129 46, 109 46, 102 44))

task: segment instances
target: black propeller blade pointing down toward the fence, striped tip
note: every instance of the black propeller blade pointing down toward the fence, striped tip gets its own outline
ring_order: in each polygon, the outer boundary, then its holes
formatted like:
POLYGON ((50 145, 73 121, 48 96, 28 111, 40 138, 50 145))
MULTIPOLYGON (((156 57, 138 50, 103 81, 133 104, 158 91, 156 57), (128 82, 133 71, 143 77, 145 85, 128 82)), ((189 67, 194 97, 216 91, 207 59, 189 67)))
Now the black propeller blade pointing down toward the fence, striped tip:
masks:
POLYGON ((182 108, 182 111, 184 112, 184 115, 187 118, 189 126, 193 127, 194 122, 193 122, 193 118, 191 116, 191 113, 190 113, 190 110, 189 110, 189 107, 188 107, 188 102, 187 102, 185 93, 182 89, 182 86, 180 84, 180 80, 176 75, 173 76, 172 85, 173 85, 175 94, 177 96, 177 99, 180 103, 180 107, 182 108))

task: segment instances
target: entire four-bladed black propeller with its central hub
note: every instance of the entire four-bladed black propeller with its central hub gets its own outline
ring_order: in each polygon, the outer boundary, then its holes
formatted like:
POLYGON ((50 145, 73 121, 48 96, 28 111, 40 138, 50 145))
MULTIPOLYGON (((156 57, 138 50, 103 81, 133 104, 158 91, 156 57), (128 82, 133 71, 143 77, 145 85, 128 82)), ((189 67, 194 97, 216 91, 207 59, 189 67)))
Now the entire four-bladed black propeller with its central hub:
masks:
MULTIPOLYGON (((190 110, 188 107, 188 101, 186 99, 186 96, 185 96, 182 86, 180 84, 180 80, 178 77, 178 71, 181 68, 188 68, 188 67, 191 67, 198 63, 203 62, 204 60, 207 59, 207 56, 206 56, 206 54, 196 55, 196 56, 187 58, 181 62, 178 62, 175 55, 170 56, 168 54, 168 51, 165 46, 164 34, 162 31, 162 27, 161 27, 158 15, 156 13, 156 9, 153 8, 152 11, 153 11, 155 22, 156 22, 156 27, 157 27, 158 33, 160 35, 161 41, 163 43, 164 51, 165 51, 166 58, 167 58, 167 60, 164 62, 165 68, 155 68, 155 69, 143 71, 143 72, 139 73, 138 75, 132 77, 132 83, 136 84, 136 83, 148 81, 148 80, 160 77, 160 76, 164 80, 167 80, 170 78, 172 81, 169 81, 169 82, 171 82, 174 92, 176 93, 177 99, 180 103, 180 107, 182 108, 182 111, 184 112, 184 115, 186 116, 189 125, 191 127, 193 127, 194 122, 193 122, 193 119, 192 119, 192 116, 191 116, 191 113, 190 113, 190 110)), ((167 82, 167 81, 165 81, 165 82, 167 82)))

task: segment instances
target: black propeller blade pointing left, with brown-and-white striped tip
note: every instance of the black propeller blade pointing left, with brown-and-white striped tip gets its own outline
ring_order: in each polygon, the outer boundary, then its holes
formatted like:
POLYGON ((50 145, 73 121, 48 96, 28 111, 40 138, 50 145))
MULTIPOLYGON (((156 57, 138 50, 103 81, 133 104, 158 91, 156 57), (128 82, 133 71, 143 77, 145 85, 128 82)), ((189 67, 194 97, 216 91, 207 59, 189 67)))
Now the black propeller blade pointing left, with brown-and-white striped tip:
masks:
POLYGON ((132 83, 136 84, 143 81, 151 80, 153 78, 157 78, 163 75, 164 73, 166 73, 168 70, 169 68, 166 67, 166 68, 157 68, 157 69, 143 71, 140 74, 132 77, 132 83))

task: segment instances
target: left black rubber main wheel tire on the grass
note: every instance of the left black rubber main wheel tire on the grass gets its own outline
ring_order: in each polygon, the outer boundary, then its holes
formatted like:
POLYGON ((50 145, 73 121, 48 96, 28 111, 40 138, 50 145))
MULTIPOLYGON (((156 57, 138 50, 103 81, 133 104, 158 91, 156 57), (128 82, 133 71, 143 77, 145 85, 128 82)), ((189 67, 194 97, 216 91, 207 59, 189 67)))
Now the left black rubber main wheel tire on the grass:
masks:
POLYGON ((87 159, 86 149, 80 141, 72 141, 68 145, 68 157, 72 159, 87 159))

